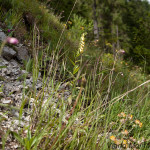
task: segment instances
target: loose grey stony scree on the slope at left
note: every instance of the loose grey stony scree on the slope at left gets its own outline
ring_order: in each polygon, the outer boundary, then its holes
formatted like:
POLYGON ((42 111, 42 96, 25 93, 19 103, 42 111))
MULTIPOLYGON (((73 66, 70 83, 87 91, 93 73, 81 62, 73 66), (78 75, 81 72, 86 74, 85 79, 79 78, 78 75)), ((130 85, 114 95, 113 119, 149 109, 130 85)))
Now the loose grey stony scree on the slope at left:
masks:
MULTIPOLYGON (((7 35, 0 29, 0 41, 3 42, 6 38, 7 35)), ((39 74, 33 89, 32 74, 23 69, 22 63, 23 61, 28 61, 29 57, 28 50, 23 44, 18 44, 13 48, 9 45, 4 46, 2 56, 0 57, 0 149, 2 148, 2 137, 4 138, 8 131, 18 133, 29 125, 35 99, 29 98, 25 91, 31 92, 36 90, 36 95, 38 95, 43 85, 42 77, 39 74), (23 113, 19 115, 23 100, 25 99, 27 101, 23 106, 23 113)), ((65 86, 60 84, 59 89, 64 88, 65 86)), ((45 86, 44 91, 43 106, 49 96, 55 94, 51 92, 48 85, 45 86)), ((69 92, 64 92, 63 96, 66 99, 69 96, 69 92)), ((57 101, 58 98, 53 97, 50 105, 59 113, 60 110, 56 109, 57 101)), ((5 150, 15 150, 18 148, 19 144, 17 141, 11 134, 8 134, 5 150)))

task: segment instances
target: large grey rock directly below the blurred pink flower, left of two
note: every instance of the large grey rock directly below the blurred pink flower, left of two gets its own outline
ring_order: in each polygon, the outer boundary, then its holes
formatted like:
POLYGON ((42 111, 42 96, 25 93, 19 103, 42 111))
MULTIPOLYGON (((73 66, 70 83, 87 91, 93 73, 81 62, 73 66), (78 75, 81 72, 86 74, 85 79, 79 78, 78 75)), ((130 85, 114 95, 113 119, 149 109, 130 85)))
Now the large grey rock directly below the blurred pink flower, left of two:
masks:
POLYGON ((17 52, 14 51, 12 48, 5 46, 3 48, 3 52, 2 52, 2 56, 6 59, 6 60, 11 60, 13 59, 15 56, 17 55, 17 52))

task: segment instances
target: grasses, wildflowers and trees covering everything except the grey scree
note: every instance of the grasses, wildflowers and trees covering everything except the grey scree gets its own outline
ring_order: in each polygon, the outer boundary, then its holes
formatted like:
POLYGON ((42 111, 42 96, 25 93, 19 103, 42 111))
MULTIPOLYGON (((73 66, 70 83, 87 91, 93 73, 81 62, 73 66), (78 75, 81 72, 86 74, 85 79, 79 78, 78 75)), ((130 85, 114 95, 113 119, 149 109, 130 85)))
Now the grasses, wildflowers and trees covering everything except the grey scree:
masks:
POLYGON ((24 68, 33 76, 32 90, 24 88, 21 105, 11 107, 22 121, 32 101, 29 124, 0 135, 2 149, 9 135, 26 150, 150 147, 147 1, 0 0, 0 19, 8 35, 0 54, 24 43, 32 56, 24 68))

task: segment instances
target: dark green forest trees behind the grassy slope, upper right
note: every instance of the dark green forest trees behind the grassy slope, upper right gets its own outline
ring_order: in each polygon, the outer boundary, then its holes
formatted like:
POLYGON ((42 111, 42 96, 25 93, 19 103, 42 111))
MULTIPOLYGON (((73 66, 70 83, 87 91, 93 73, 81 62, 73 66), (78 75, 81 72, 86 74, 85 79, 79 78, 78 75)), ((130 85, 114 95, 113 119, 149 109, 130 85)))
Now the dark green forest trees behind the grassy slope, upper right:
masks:
MULTIPOLYGON (((73 14, 83 17, 88 24, 93 21, 93 2, 94 0, 78 0, 73 14)), ((126 51, 126 60, 145 67, 146 72, 150 73, 150 4, 148 1, 96 0, 95 2, 101 51, 106 49, 106 43, 111 43, 114 49, 121 48, 126 51), (119 47, 116 46, 117 41, 119 47)), ((61 21, 66 21, 74 3, 75 1, 70 0, 53 0, 47 5, 54 10, 55 14, 62 15, 61 21)), ((80 23, 80 20, 77 23, 80 23)), ((93 34, 89 35, 90 39, 94 38, 93 34)), ((113 50, 109 52, 113 53, 113 50)))

